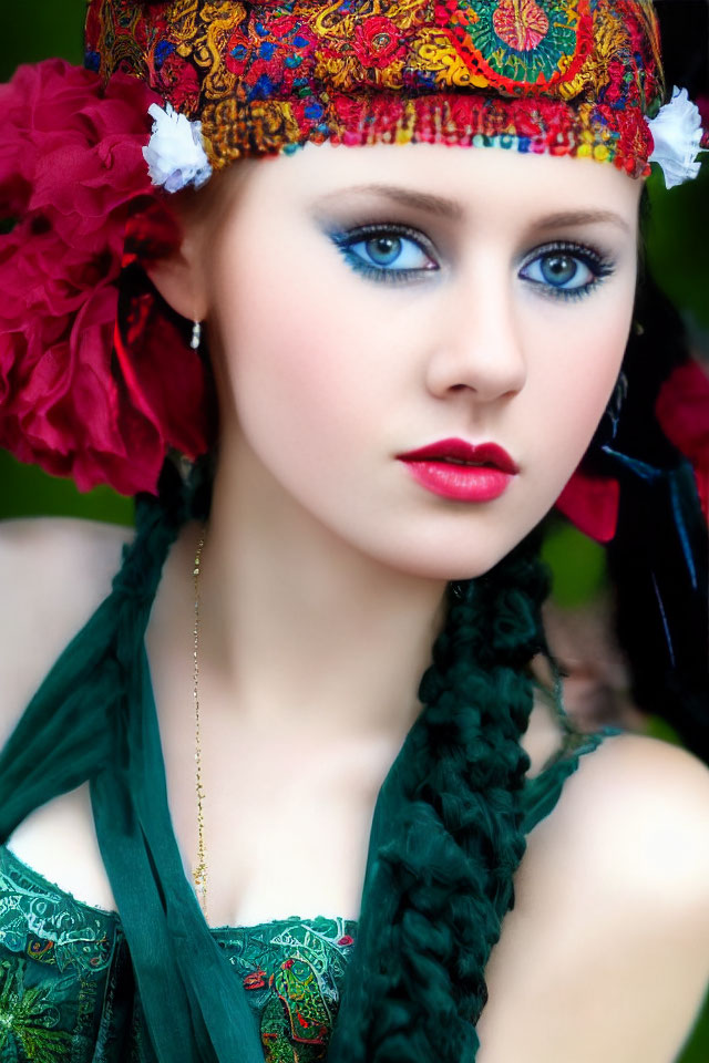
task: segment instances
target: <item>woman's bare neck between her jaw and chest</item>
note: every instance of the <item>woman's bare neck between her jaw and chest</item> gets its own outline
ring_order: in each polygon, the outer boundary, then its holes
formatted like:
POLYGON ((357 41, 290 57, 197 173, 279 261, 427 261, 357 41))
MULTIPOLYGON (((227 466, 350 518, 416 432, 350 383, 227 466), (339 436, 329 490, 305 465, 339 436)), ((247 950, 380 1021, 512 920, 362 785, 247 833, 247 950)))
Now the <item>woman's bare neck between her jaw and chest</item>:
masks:
MULTIPOLYGON (((184 532, 192 557, 198 532, 184 532)), ((201 682, 259 730, 399 740, 420 711, 444 590, 357 550, 230 454, 202 555, 201 682)))

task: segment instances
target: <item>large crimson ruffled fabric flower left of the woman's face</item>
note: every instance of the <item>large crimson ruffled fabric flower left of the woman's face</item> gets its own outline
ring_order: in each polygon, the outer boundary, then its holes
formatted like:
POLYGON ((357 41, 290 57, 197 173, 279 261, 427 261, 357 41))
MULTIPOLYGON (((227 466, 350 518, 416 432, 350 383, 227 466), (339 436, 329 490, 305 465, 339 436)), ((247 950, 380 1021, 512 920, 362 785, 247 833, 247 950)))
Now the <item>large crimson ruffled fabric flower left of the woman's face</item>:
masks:
POLYGON ((194 352, 167 329, 114 349, 126 224, 155 203, 156 99, 61 60, 0 86, 0 216, 19 219, 0 236, 0 445, 81 491, 155 492, 168 447, 205 448, 194 352))

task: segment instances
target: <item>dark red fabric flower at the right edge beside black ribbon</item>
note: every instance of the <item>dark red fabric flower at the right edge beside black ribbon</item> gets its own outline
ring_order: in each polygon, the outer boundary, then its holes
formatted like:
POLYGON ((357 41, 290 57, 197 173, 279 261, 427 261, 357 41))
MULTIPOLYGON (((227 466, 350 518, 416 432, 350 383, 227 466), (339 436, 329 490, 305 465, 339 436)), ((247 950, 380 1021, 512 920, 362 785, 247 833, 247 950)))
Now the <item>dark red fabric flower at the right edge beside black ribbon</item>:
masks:
POLYGON ((668 376, 655 413, 667 438, 691 462, 709 520, 709 376, 698 362, 685 362, 668 376))

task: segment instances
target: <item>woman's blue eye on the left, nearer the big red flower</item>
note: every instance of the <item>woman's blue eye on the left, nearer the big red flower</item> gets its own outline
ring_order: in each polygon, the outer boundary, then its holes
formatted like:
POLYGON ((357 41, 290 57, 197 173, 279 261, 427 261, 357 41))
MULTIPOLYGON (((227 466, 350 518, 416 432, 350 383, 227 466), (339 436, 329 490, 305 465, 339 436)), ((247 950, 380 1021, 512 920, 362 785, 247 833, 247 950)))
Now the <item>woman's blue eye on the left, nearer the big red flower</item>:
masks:
POLYGON ((374 281, 401 283, 439 269, 421 237, 404 226, 368 225, 331 239, 356 272, 374 281))

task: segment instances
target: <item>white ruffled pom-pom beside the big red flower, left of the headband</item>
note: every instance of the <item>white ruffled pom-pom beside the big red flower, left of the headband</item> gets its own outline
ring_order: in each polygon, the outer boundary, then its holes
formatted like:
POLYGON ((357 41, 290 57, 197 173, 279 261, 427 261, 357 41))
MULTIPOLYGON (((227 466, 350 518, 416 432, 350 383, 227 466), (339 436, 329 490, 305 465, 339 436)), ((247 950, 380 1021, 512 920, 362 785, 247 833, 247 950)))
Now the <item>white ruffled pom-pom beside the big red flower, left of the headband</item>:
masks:
POLYGON ((199 188, 212 176, 212 164, 202 143, 202 122, 191 122, 168 103, 147 109, 154 118, 153 135, 143 156, 154 185, 179 192, 187 185, 199 188))

